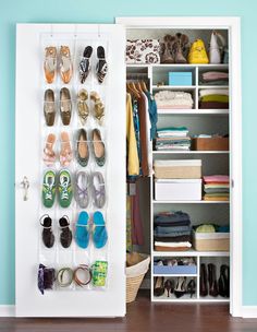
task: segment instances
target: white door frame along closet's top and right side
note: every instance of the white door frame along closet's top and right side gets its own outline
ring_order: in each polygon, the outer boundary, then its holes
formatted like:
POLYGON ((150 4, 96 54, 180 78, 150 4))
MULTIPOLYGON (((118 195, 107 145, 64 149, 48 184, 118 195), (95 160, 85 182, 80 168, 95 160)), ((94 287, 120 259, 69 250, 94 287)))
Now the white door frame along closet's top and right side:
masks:
POLYGON ((240 17, 176 16, 117 17, 115 23, 128 27, 228 28, 230 49, 230 170, 231 192, 231 299, 230 312, 242 317, 242 90, 241 90, 241 20, 240 17))

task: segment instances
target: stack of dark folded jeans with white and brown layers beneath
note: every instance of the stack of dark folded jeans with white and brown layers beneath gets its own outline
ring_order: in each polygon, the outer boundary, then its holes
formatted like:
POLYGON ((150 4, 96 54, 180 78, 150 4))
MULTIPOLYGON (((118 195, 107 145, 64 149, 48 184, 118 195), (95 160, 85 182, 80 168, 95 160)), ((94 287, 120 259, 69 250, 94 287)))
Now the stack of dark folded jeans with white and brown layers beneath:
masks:
POLYGON ((192 247, 191 220, 187 213, 161 212, 155 216, 154 226, 157 251, 184 251, 192 247))

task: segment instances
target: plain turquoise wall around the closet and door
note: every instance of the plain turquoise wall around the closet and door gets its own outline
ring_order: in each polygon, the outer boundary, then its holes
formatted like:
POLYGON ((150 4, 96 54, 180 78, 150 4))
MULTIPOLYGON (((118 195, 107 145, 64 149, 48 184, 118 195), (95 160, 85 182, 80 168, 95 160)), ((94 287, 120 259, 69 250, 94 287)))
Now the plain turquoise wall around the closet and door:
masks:
MULTIPOLYGON (((0 0, 0 305, 14 289, 14 95, 16 23, 113 23, 115 16, 241 16, 243 74, 243 303, 257 305, 256 0, 0 0), (255 164, 256 163, 256 164, 255 164)), ((28 69, 29 70, 29 69, 28 69)), ((26 84, 24 78, 24 84, 26 84)), ((26 90, 24 90, 26 93, 26 90)), ((29 146, 24 146, 24 157, 29 146)), ((19 163, 19 161, 17 161, 19 163)), ((26 223, 26 221, 24 221, 26 223)), ((25 245, 25 244, 24 244, 25 245)), ((24 258, 25 259, 25 258, 24 258)))

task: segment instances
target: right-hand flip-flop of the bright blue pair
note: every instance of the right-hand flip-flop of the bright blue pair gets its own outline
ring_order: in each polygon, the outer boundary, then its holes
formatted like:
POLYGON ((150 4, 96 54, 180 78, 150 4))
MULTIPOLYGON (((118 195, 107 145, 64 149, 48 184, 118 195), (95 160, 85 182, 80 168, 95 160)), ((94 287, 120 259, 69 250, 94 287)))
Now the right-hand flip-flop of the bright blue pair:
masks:
POLYGON ((106 222, 100 211, 94 213, 93 222, 95 226, 93 233, 93 241, 95 244, 95 247, 100 249, 106 246, 108 239, 106 222))

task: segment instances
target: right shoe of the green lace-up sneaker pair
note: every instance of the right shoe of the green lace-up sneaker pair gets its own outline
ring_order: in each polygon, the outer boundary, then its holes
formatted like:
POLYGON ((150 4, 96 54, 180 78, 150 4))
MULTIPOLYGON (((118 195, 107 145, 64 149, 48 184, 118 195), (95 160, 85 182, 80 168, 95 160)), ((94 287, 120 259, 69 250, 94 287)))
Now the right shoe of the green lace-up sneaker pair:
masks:
POLYGON ((59 204, 61 208, 69 208, 72 202, 72 178, 68 169, 62 169, 59 174, 59 204))

